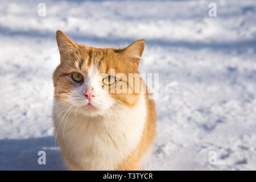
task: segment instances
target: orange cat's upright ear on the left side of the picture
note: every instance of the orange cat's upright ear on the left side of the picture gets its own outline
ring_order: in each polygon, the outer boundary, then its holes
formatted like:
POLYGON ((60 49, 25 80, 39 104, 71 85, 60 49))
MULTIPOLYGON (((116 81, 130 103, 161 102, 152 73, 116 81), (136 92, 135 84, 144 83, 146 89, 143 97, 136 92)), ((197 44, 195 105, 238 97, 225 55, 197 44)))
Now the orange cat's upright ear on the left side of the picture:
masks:
POLYGON ((64 32, 60 30, 56 31, 56 41, 59 47, 61 61, 67 59, 69 53, 74 51, 77 46, 73 40, 71 40, 64 32))

